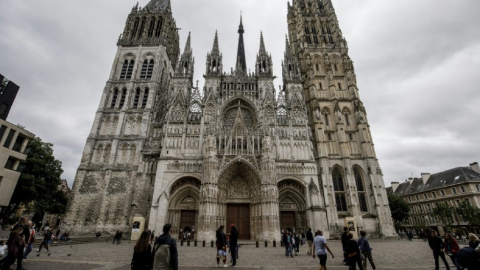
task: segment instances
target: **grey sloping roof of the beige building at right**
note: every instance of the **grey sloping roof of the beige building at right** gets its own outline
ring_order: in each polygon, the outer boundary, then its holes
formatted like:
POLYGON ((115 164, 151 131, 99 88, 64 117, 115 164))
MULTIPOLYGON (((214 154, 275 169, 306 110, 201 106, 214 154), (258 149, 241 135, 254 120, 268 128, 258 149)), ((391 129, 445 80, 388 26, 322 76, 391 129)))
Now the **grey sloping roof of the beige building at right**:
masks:
MULTIPOLYGON (((422 178, 414 178, 411 184, 409 181, 400 183, 394 194, 404 196, 467 182, 480 182, 480 174, 475 173, 470 167, 457 167, 430 175, 425 184, 422 178)), ((387 193, 392 193, 392 187, 386 190, 387 193)))

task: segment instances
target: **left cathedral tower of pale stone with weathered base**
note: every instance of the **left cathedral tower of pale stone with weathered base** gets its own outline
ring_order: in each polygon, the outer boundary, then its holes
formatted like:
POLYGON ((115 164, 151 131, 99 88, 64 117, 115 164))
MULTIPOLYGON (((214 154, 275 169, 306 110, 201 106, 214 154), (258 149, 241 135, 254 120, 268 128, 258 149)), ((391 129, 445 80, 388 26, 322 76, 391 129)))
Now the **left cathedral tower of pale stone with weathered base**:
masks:
POLYGON ((64 218, 71 232, 126 231, 135 215, 149 216, 152 204, 166 97, 179 55, 170 1, 134 6, 117 46, 64 218))

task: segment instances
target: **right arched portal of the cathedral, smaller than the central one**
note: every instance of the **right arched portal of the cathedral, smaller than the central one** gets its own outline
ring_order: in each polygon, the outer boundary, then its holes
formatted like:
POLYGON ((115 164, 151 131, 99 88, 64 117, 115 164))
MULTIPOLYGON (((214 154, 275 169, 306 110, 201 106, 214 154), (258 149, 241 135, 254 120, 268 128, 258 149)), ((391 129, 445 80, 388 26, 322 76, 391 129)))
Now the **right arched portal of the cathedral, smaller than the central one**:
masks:
POLYGON ((305 186, 292 179, 278 183, 278 201, 280 209, 280 228, 306 231, 305 186))

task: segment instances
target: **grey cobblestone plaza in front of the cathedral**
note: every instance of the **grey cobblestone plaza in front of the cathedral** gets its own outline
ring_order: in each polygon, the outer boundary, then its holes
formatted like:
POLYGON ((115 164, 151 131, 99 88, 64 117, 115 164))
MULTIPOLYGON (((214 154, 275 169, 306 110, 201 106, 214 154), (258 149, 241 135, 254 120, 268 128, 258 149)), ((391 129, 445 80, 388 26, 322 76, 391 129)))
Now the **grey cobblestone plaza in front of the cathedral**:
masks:
MULTIPOLYGON (((179 269, 208 269, 216 268, 215 248, 210 247, 210 243, 203 248, 201 242, 198 247, 187 247, 178 244, 179 250, 179 269)), ((330 240, 328 242, 335 258, 328 256, 327 267, 329 269, 348 269, 343 265, 342 245, 339 240, 330 240)), ((370 240, 373 248, 373 259, 378 270, 381 269, 433 269, 434 258, 427 242, 421 240, 370 240)), ((89 243, 73 246, 52 247, 51 256, 42 252, 36 257, 32 253, 23 264, 29 270, 127 270, 130 269, 130 261, 133 254, 133 241, 123 241, 121 244, 89 243)), ((460 244, 461 248, 465 244, 460 244)), ((279 243, 273 248, 271 243, 265 248, 260 244, 259 248, 255 244, 245 244, 239 249, 239 260, 237 267, 242 269, 318 269, 318 259, 313 259, 306 254, 307 245, 300 247, 300 255, 294 258, 285 257, 284 248, 279 243)), ((453 267, 451 261, 450 267, 453 267)), ((228 263, 228 261, 227 261, 228 263)), ((442 269, 442 264, 440 265, 442 269)), ((444 268, 444 266, 443 266, 444 268)), ((371 269, 367 265, 367 269, 371 269)), ((454 268, 452 268, 454 269, 454 268)))

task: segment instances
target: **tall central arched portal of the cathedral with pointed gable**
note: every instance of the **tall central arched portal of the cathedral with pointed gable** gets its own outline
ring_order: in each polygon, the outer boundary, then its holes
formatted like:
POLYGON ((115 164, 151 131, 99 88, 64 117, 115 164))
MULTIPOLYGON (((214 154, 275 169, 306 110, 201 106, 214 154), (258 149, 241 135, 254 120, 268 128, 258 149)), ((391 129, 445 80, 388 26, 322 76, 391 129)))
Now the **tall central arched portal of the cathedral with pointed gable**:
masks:
POLYGON ((235 224, 239 239, 256 239, 261 224, 260 175, 257 169, 243 158, 229 162, 219 176, 219 215, 225 225, 235 224))

